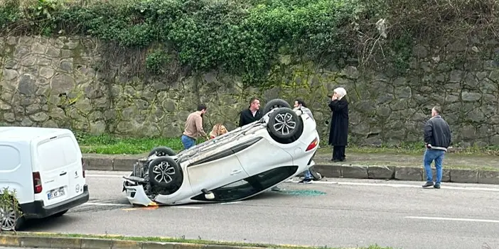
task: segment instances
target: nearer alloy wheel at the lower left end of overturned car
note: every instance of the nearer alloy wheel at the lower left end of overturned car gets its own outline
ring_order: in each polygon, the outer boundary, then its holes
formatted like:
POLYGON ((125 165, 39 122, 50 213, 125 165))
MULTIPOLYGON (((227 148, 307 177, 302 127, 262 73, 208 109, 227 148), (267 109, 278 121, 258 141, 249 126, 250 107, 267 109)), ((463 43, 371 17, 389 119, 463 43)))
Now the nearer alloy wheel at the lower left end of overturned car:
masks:
POLYGON ((183 182, 183 173, 171 157, 158 157, 149 162, 149 182, 158 187, 175 187, 183 182))

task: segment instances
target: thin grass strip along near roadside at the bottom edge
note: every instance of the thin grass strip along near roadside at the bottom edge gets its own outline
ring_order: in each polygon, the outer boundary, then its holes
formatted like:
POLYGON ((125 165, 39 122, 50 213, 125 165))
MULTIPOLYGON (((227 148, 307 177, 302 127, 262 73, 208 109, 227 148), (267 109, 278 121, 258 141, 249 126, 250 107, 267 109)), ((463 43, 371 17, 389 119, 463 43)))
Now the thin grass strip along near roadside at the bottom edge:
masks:
MULTIPOLYGON (((100 238, 100 239, 110 239, 110 240, 131 240, 137 242, 162 242, 162 243, 192 243, 192 244, 204 244, 204 245, 234 245, 234 246, 244 246, 244 247, 257 247, 257 248, 294 248, 294 249, 314 249, 314 248, 329 248, 326 246, 312 247, 312 246, 299 246, 299 245, 274 245, 265 243, 237 243, 228 241, 218 241, 218 240, 203 240, 198 239, 186 239, 182 238, 168 238, 168 237, 132 237, 132 236, 99 236, 93 234, 78 234, 78 233, 23 233, 23 232, 4 232, 0 233, 2 235, 9 236, 32 236, 32 237, 59 237, 59 238, 100 238)), ((331 248, 334 249, 334 248, 331 248)), ((340 248, 338 248, 340 249, 340 248)), ((368 247, 361 247, 355 249, 395 249, 391 247, 381 247, 379 245, 369 245, 368 247)))

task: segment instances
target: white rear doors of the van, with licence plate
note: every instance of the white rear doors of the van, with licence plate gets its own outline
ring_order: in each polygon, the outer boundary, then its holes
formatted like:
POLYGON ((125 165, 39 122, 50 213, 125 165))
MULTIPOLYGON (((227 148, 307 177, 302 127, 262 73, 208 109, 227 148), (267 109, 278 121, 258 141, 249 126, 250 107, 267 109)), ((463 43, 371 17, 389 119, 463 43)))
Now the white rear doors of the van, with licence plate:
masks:
POLYGON ((39 172, 42 182, 36 199, 49 206, 83 193, 82 155, 70 131, 43 138, 34 150, 33 172, 39 172))

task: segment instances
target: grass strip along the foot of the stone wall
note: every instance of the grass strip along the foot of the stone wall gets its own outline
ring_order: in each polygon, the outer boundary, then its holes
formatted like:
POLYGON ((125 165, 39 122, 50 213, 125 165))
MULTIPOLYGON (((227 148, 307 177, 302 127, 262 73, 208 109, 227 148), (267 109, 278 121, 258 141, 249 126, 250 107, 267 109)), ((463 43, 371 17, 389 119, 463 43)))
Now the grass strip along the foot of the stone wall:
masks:
MULTIPOLYGON (((89 135, 87 133, 76 133, 78 143, 82 153, 97 153, 97 154, 142 154, 149 153, 156 146, 166 146, 172 148, 176 152, 183 150, 183 145, 180 138, 123 138, 117 135, 89 135)), ((205 140, 200 139, 198 143, 203 143, 205 140)), ((320 153, 331 153, 331 148, 322 144, 319 149, 320 153)), ((377 154, 395 154, 395 155, 423 155, 423 143, 407 143, 399 146, 356 146, 350 145, 347 148, 348 153, 377 153, 377 154)), ((499 147, 468 147, 468 148, 451 148, 449 153, 459 155, 499 155, 499 147)))

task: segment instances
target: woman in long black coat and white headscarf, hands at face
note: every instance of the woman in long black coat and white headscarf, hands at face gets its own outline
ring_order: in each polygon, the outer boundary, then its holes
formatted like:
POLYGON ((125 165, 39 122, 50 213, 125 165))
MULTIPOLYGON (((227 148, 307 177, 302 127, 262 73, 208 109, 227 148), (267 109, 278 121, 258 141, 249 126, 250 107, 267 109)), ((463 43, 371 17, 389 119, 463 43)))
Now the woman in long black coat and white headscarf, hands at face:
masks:
POLYGON ((333 162, 345 161, 345 146, 348 141, 348 100, 345 99, 346 90, 343 87, 334 89, 329 102, 333 112, 329 128, 329 145, 333 145, 333 162))

